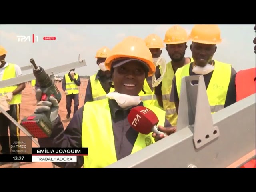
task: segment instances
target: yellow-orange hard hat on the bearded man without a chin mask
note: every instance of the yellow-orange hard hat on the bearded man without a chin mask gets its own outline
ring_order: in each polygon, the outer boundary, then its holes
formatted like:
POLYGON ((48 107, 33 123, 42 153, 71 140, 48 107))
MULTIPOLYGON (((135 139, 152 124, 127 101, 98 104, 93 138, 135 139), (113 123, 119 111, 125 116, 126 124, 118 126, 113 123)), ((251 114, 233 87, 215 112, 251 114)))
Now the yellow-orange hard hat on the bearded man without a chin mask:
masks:
POLYGON ((164 36, 164 43, 166 44, 180 44, 188 42, 188 33, 186 29, 179 25, 170 27, 164 36))

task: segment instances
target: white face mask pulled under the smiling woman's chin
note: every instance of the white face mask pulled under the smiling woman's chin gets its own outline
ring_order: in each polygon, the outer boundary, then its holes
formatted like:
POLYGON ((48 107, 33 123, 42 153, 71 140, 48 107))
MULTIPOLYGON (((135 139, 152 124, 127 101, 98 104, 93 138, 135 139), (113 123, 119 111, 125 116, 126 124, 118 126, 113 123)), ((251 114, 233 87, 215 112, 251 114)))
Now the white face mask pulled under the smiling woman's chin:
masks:
POLYGON ((108 93, 106 97, 116 100, 117 104, 123 109, 129 108, 131 106, 137 106, 142 101, 140 96, 121 94, 116 91, 108 93))

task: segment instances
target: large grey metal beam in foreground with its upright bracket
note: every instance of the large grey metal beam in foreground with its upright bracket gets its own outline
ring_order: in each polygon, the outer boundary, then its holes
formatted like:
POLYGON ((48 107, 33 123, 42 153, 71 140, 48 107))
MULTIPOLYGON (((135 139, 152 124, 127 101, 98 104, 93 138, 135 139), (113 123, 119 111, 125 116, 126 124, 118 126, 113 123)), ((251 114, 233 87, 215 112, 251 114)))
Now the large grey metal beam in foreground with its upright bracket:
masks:
POLYGON ((200 86, 202 80, 198 79, 198 86, 192 87, 187 86, 188 82, 191 82, 190 77, 182 80, 176 133, 106 168, 226 168, 254 150, 256 94, 212 114, 209 119, 209 102, 202 99, 206 89, 205 86, 200 86), (193 98, 192 94, 195 89, 198 89, 197 99, 193 98), (200 103, 196 104, 195 100, 200 103), (202 123, 207 123, 206 126, 197 122, 198 116, 202 123), (216 127, 219 136, 207 142, 204 134, 207 130, 216 130, 216 127), (195 144, 198 137, 203 142, 202 146, 195 144))

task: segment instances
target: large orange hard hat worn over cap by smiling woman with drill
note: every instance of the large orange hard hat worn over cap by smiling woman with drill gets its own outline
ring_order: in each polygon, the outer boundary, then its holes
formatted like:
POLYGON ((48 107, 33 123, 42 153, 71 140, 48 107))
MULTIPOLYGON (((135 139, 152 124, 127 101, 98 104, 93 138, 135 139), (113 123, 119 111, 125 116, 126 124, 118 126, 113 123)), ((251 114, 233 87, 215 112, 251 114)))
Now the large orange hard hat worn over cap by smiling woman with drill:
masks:
POLYGON ((106 68, 111 70, 112 62, 121 58, 139 60, 148 68, 148 76, 152 76, 156 71, 152 54, 146 46, 145 41, 141 38, 128 36, 114 46, 110 52, 110 56, 105 61, 106 68))

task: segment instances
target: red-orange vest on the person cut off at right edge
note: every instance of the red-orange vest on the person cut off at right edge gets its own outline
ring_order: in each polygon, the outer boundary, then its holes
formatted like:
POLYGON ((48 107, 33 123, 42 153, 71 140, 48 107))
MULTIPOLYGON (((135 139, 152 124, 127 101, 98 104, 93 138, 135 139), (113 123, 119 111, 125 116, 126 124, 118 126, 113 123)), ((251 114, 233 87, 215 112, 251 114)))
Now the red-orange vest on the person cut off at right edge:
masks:
POLYGON ((255 93, 256 68, 238 71, 236 74, 236 101, 240 101, 255 93))

